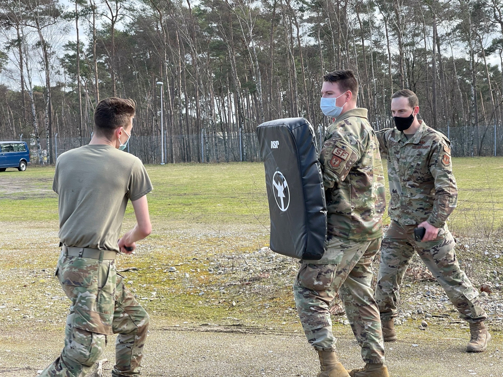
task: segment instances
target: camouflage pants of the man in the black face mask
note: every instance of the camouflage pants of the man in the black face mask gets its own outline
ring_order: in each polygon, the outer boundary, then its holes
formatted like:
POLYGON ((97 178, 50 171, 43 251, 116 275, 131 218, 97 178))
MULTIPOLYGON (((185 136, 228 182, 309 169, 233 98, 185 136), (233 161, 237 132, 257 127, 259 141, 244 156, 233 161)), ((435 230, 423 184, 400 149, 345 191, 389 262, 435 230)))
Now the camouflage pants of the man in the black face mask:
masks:
POLYGON ((477 291, 459 267, 454 252, 455 241, 447 226, 439 231, 439 239, 428 242, 414 240, 415 227, 392 221, 382 240, 381 264, 374 294, 381 320, 389 321, 398 316, 396 304, 400 284, 417 252, 458 309, 460 318, 470 323, 483 321, 486 314, 477 291))

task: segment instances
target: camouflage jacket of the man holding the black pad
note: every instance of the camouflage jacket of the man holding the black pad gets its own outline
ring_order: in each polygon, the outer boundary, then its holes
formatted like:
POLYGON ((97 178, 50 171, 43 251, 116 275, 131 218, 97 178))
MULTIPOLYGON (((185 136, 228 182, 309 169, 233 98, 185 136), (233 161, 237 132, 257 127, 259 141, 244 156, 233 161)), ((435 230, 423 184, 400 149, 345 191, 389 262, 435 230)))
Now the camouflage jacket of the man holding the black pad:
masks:
POLYGON ((319 160, 328 234, 358 241, 382 237, 384 171, 367 109, 349 110, 328 127, 319 160))

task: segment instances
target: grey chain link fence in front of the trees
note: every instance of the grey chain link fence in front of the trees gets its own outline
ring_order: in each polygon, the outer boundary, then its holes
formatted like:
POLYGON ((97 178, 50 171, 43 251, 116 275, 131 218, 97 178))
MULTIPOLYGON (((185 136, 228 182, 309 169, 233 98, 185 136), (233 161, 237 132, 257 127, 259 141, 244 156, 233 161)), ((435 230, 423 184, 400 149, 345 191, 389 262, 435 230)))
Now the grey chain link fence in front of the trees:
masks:
MULTIPOLYGON (((501 156, 503 155, 503 125, 480 125, 444 127, 438 131, 451 140, 451 151, 455 157, 501 156)), ((316 148, 326 135, 326 127, 314 127, 316 148)), ((78 148, 90 142, 90 137, 55 137, 52 141, 54 156, 67 150, 78 148)), ((37 143, 32 135, 23 139, 30 148, 33 164, 39 163, 37 143)), ((47 139, 40 138, 42 164, 48 163, 47 139)), ((214 133, 203 131, 200 134, 169 135, 131 135, 126 151, 139 157, 143 163, 158 164, 177 162, 239 162, 262 161, 259 140, 256 133, 214 133), (164 153, 162 153, 164 152, 164 153)))

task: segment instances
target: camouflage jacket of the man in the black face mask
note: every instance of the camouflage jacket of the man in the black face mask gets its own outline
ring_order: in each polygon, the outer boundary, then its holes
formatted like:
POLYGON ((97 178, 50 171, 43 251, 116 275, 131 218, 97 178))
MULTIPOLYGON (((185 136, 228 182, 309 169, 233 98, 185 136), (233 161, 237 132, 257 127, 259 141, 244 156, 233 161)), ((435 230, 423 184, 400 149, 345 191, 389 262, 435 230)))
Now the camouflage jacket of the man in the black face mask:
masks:
POLYGON ((420 122, 421 127, 408 140, 396 128, 377 132, 379 149, 388 156, 388 213, 401 225, 426 220, 442 228, 458 202, 451 143, 447 136, 420 122))

